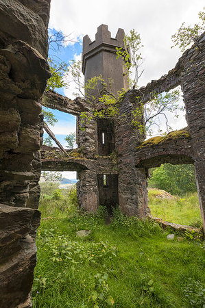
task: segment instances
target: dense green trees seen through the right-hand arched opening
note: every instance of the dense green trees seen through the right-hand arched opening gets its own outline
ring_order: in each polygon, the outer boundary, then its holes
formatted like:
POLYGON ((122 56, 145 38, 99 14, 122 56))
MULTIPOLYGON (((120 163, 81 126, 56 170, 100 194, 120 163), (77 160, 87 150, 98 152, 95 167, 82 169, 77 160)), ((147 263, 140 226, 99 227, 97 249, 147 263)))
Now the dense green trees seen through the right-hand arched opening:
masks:
POLYGON ((151 171, 149 184, 171 194, 186 194, 197 190, 193 165, 162 164, 151 171))

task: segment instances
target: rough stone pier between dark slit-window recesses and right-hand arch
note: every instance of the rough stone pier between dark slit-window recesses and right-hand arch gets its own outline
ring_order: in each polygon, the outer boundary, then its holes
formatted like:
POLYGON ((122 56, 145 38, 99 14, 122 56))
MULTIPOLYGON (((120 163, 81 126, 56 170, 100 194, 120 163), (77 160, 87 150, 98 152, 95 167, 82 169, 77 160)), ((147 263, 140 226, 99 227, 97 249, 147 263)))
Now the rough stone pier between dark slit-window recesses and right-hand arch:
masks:
MULTIPOLYGON (((125 94, 121 102, 121 120, 115 128, 116 150, 119 168, 119 207, 124 214, 145 217, 149 213, 147 198, 147 179, 145 168, 136 168, 135 153, 143 136, 131 125, 132 110, 136 98, 132 91, 125 94)), ((143 123, 143 118, 140 119, 143 123)))

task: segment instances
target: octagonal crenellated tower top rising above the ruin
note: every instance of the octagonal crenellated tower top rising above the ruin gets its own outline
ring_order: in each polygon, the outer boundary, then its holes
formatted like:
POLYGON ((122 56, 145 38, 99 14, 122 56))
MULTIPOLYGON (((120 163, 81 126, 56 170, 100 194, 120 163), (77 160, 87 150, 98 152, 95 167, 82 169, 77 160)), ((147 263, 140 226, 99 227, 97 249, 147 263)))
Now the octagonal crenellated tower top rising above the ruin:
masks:
MULTIPOLYGON (((111 38, 107 25, 100 25, 95 34, 95 40, 91 42, 89 36, 83 38, 82 51, 82 72, 85 76, 85 82, 92 77, 101 75, 104 82, 108 85, 112 79, 112 86, 109 89, 112 94, 117 96, 121 89, 128 90, 128 75, 125 72, 123 60, 117 59, 116 47, 125 47, 123 38, 125 32, 118 29, 115 38, 111 38)), ((97 97, 96 89, 93 94, 97 97)))

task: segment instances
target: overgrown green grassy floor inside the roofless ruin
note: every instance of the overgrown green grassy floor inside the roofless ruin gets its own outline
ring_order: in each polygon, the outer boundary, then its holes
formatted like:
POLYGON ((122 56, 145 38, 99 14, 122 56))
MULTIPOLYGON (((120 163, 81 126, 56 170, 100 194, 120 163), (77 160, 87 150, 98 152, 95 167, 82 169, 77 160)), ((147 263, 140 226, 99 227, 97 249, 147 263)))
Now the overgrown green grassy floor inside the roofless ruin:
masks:
POLYGON ((102 209, 80 214, 69 198, 40 210, 34 307, 203 307, 201 242, 169 241, 158 224, 118 210, 105 224, 102 209), (77 238, 84 229, 91 234, 77 238))

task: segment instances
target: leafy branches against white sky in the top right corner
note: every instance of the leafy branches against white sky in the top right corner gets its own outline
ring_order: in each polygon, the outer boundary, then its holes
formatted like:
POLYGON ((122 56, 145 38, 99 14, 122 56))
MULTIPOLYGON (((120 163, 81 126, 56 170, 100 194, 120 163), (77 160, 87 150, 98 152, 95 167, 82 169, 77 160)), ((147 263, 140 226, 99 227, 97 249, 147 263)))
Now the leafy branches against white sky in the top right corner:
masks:
POLYGON ((178 29, 178 32, 171 36, 171 40, 173 42, 173 46, 171 48, 178 46, 181 51, 185 51, 185 49, 189 47, 190 44, 193 44, 193 42, 197 44, 198 38, 204 31, 205 12, 199 12, 198 16, 200 19, 199 23, 195 23, 193 27, 191 27, 190 25, 185 26, 185 23, 182 23, 180 29, 178 29))

